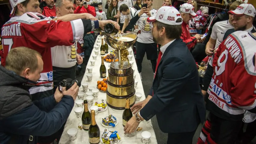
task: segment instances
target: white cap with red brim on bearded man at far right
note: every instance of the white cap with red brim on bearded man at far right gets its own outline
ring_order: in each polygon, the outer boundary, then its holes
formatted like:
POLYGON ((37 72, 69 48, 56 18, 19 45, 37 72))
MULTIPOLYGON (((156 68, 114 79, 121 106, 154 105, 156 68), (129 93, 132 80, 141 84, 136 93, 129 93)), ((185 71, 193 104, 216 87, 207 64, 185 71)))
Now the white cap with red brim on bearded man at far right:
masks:
POLYGON ((231 10, 227 12, 228 14, 234 14, 234 15, 248 15, 255 17, 256 10, 252 4, 240 4, 238 7, 236 7, 235 10, 231 10))

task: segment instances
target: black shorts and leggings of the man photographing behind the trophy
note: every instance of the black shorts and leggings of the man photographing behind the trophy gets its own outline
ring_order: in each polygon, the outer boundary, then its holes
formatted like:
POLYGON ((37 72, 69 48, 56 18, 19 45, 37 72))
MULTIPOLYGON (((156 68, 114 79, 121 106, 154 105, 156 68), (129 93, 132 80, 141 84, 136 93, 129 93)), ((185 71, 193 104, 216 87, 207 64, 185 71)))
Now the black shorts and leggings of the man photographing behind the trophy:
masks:
POLYGON ((154 73, 155 67, 156 67, 156 59, 158 57, 157 44, 156 43, 143 44, 138 41, 136 42, 136 58, 137 58, 137 67, 138 67, 139 73, 141 73, 141 70, 142 70, 142 61, 143 61, 145 52, 147 55, 147 59, 150 60, 152 64, 152 70, 154 73))

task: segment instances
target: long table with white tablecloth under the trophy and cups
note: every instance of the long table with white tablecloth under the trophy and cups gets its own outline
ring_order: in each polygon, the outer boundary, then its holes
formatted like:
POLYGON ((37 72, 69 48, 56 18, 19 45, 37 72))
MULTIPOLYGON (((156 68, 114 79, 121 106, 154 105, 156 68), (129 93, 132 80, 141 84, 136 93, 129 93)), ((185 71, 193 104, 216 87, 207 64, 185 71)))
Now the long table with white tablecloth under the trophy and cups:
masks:
MULTIPOLYGON (((97 40, 96 40, 94 46, 97 46, 97 40)), ((109 51, 111 49, 112 48, 109 46, 109 51)), ((130 49, 131 49, 131 47, 130 47, 130 49)), ((95 53, 94 51, 95 51, 95 48, 93 48, 92 54, 95 53)), ((134 73, 134 74, 136 74, 135 79, 138 81, 138 84, 137 84, 137 87, 135 88, 135 90, 136 90, 136 92, 140 92, 143 95, 142 98, 140 99, 140 101, 143 101, 146 97, 145 97, 142 82, 141 82, 141 79, 140 79, 140 74, 138 73, 138 70, 137 70, 137 65, 136 65, 136 62, 135 62, 133 52, 132 52, 132 55, 133 55, 132 61, 134 61, 134 64, 133 64, 132 68, 135 69, 135 73, 134 73)), ((92 56, 90 56, 90 59, 88 61, 87 66, 91 66, 91 62, 90 62, 91 60, 92 60, 92 56)), ((104 64, 105 64, 106 68, 108 69, 110 63, 104 62, 104 64)), ((90 86, 95 86, 96 87, 97 86, 97 81, 100 80, 100 79, 102 80, 102 78, 100 77, 100 71, 99 71, 100 66, 101 66, 101 55, 100 55, 100 52, 99 52, 99 55, 97 56, 97 60, 95 61, 95 66, 93 66, 93 70, 92 70, 92 82, 87 81, 86 73, 88 71, 87 71, 87 68, 86 68, 86 72, 83 76, 83 79, 82 79, 81 83, 88 82, 89 87, 90 86)), ((108 76, 108 73, 107 73, 107 76, 108 76)), ((80 87, 80 91, 83 91, 82 86, 80 87)), ((89 89, 88 89, 88 91, 89 91, 89 89)), ((85 98, 86 98, 86 95, 84 96, 84 99, 85 98)), ((101 101, 102 99, 106 100, 106 93, 102 92, 102 91, 99 91, 98 100, 94 100, 94 102, 95 101, 101 101)), ((89 144, 88 131, 84 131, 83 129, 80 130, 78 128, 78 123, 81 122, 81 119, 77 119, 77 117, 75 115, 74 109, 76 107, 77 107, 76 104, 74 104, 73 110, 71 111, 71 113, 68 117, 68 120, 66 122, 66 125, 65 125, 65 128, 64 128, 64 131, 63 131, 63 134, 61 136, 59 144, 89 144), (71 142, 69 140, 69 137, 68 137, 68 134, 67 134, 67 131, 70 128, 77 128, 77 139, 74 142, 71 142)), ((118 134, 121 138, 121 141, 118 144, 141 144, 142 143, 141 133, 143 131, 149 131, 151 133, 151 139, 149 141, 149 144, 157 144, 157 140, 156 140, 156 137, 155 137, 155 132, 153 130, 151 120, 140 122, 140 125, 138 127, 142 128, 142 131, 135 131, 133 134, 126 134, 125 135, 124 130, 123 130, 124 127, 122 125, 122 113, 123 113, 123 110, 114 110, 114 109, 111 109, 110 107, 108 107, 107 110, 105 110, 104 112, 99 112, 98 115, 96 116, 96 123, 100 128, 101 134, 103 133, 103 131, 105 129, 105 127, 103 127, 101 125, 102 118, 104 118, 106 116, 109 116, 109 115, 113 115, 117 119, 119 119, 119 123, 118 123, 118 125, 116 125, 115 128, 106 128, 106 129, 107 129, 107 131, 118 131, 118 134)))

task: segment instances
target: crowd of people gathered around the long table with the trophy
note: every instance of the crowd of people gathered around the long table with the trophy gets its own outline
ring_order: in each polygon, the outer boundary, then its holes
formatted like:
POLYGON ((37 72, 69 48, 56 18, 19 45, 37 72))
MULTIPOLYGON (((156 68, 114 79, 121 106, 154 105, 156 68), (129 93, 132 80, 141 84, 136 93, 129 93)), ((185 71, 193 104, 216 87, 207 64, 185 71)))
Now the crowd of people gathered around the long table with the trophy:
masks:
POLYGON ((140 29, 133 46, 140 78, 146 53, 154 80, 125 134, 156 115, 168 144, 247 144, 256 136, 256 10, 242 0, 211 13, 195 0, 10 0, 0 38, 0 143, 58 142, 98 33, 140 29), (103 11, 103 6, 107 11, 103 11), (206 110, 209 115, 206 119, 206 110), (243 128, 246 125, 246 131, 243 128))

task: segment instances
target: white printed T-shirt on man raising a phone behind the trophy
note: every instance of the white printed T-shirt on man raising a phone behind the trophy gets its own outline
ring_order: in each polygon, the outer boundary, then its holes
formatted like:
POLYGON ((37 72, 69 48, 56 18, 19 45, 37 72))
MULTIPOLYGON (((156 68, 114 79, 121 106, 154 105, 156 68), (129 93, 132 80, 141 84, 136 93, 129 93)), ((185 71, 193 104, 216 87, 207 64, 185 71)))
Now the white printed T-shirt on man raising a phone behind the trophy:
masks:
MULTIPOLYGON (((139 12, 140 10, 137 10, 137 12, 135 13, 135 16, 139 12)), ((156 12, 157 10, 152 8, 152 10, 150 10, 151 16, 155 16, 156 12)), ((147 22, 148 17, 149 16, 146 15, 146 13, 143 13, 140 16, 139 20, 136 22, 136 25, 138 25, 141 31, 140 34, 138 35, 137 41, 144 44, 154 43, 153 35, 152 35, 153 24, 152 22, 147 22)))

